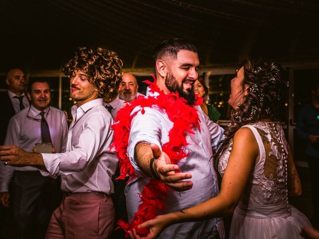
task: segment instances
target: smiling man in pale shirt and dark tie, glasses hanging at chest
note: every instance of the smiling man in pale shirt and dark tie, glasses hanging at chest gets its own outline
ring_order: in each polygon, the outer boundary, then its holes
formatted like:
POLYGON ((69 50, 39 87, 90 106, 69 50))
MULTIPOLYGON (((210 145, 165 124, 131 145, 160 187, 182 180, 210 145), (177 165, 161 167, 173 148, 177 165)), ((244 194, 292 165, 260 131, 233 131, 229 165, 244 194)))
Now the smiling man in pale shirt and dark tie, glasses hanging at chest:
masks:
MULTIPOLYGON (((35 144, 41 142, 51 145, 51 152, 64 152, 67 121, 62 111, 49 106, 49 82, 43 79, 30 80, 27 97, 31 106, 11 118, 4 145, 16 145, 31 152, 35 144)), ((35 167, 0 164, 0 202, 4 207, 13 207, 17 224, 16 238, 44 238, 51 214, 58 203, 59 184, 58 179, 42 176, 35 167), (11 179, 12 200, 8 192, 11 179)))

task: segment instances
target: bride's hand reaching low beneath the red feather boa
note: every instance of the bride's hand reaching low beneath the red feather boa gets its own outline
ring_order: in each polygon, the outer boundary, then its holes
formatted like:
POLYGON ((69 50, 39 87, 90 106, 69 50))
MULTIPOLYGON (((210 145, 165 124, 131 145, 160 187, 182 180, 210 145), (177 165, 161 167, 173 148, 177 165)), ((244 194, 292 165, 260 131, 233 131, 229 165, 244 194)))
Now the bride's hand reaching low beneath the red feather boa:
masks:
POLYGON ((167 228, 171 223, 171 217, 169 214, 157 216, 155 219, 149 220, 145 223, 142 223, 138 228, 148 228, 150 232, 144 237, 140 237, 136 230, 133 229, 133 232, 129 231, 129 236, 131 239, 154 239, 157 238, 160 233, 167 228))

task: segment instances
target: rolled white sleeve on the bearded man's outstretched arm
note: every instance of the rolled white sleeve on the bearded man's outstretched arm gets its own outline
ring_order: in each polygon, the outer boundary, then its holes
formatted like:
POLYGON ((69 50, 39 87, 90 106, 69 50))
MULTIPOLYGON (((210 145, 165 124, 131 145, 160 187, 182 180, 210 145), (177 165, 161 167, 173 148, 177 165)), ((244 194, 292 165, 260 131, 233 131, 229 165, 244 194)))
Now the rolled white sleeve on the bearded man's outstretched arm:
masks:
POLYGON ((132 114, 137 115, 132 119, 131 131, 128 145, 128 155, 132 166, 137 170, 141 171, 136 163, 135 159, 135 147, 140 142, 154 143, 157 144, 161 149, 161 138, 160 138, 160 125, 161 116, 152 108, 144 108, 145 113, 142 114, 140 107, 134 109, 132 114))

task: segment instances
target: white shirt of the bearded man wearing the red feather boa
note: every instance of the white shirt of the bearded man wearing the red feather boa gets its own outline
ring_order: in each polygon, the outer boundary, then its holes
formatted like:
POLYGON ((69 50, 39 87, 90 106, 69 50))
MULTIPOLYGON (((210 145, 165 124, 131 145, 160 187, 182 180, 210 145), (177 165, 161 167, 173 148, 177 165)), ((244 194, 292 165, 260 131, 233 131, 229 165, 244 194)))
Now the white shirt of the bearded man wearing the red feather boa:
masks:
MULTIPOLYGON (((200 119, 200 130, 193 128, 194 134, 187 134, 188 145, 185 147, 185 151, 189 152, 189 156, 177 163, 181 172, 191 173, 192 178, 189 180, 193 182, 193 187, 184 192, 168 190, 164 214, 190 208, 218 194, 212 148, 215 151, 218 142, 223 138, 223 129, 211 121, 199 106, 195 108, 200 119)), ((132 114, 140 109, 140 107, 135 108, 132 114)), ((137 212, 140 204, 139 193, 142 192, 143 187, 150 179, 144 175, 135 162, 135 146, 139 142, 145 141, 155 143, 161 148, 161 145, 168 142, 168 132, 173 126, 167 114, 158 107, 146 107, 144 110, 144 114, 140 111, 132 119, 129 137, 128 154, 137 173, 137 178, 133 178, 125 189, 129 218, 132 218, 137 212)), ((175 224, 164 230, 159 238, 174 239, 176 235, 184 235, 181 238, 186 238, 185 235, 187 235, 187 238, 208 239, 217 234, 217 229, 223 234, 221 223, 221 219, 213 219, 205 222, 175 224)))

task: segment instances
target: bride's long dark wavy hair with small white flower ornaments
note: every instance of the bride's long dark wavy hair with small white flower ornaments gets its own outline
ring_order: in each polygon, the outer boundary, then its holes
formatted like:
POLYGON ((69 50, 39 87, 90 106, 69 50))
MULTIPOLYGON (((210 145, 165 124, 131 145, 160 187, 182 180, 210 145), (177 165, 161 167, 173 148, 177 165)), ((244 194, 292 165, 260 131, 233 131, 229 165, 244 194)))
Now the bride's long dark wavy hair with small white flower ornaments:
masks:
MULTIPOLYGON (((282 68, 275 62, 259 58, 248 58, 242 64, 244 79, 242 89, 248 86, 248 95, 230 113, 231 123, 226 127, 225 139, 220 151, 227 148, 236 131, 243 125, 261 119, 276 120, 284 89, 288 82, 282 79, 282 68)), ((220 153, 220 151, 218 153, 220 153)))

